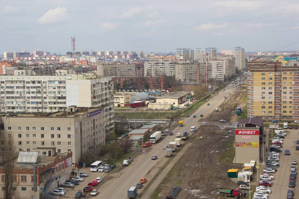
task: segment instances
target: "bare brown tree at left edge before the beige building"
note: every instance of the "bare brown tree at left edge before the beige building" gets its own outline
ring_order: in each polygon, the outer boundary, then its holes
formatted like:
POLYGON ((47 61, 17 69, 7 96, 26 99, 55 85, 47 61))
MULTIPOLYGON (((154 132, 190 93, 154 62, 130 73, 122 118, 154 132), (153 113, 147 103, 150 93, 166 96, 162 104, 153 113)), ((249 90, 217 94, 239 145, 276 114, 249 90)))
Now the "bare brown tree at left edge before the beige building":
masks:
MULTIPOLYGON (((4 187, 2 188, 4 199, 13 199, 16 197, 16 175, 13 173, 15 169, 15 159, 17 152, 13 144, 11 136, 4 137, 1 140, 0 164, 4 172, 4 187)), ((3 177, 2 177, 3 178, 3 177)))

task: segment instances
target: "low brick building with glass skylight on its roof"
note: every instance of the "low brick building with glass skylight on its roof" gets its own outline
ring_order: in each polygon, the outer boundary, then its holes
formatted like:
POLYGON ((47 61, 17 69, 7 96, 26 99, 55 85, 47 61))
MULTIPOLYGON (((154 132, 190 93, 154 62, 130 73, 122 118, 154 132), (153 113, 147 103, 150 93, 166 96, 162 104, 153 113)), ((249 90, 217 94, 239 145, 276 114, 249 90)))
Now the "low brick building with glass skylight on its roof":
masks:
MULTIPOLYGON (((16 198, 51 198, 49 192, 70 180, 72 172, 72 152, 64 155, 53 154, 51 157, 42 156, 38 149, 34 152, 19 152, 12 173, 16 198)), ((2 166, 0 176, 0 187, 3 190, 6 179, 2 166)), ((0 193, 0 198, 4 198, 3 192, 0 193)))

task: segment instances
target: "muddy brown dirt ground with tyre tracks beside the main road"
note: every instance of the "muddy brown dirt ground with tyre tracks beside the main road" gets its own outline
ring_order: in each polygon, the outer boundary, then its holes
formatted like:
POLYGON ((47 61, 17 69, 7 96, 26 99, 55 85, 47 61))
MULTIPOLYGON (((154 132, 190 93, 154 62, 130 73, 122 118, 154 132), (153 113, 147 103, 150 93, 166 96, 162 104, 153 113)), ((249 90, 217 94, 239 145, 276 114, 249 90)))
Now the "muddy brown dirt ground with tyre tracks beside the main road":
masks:
POLYGON ((163 199, 174 186, 182 191, 179 199, 217 199, 217 189, 233 188, 236 183, 227 177, 227 170, 241 169, 232 163, 234 128, 237 125, 235 100, 218 113, 213 113, 189 140, 189 148, 159 185, 159 194, 153 198, 163 199), (225 119, 227 123, 220 123, 225 119), (203 139, 200 137, 203 136, 203 139))

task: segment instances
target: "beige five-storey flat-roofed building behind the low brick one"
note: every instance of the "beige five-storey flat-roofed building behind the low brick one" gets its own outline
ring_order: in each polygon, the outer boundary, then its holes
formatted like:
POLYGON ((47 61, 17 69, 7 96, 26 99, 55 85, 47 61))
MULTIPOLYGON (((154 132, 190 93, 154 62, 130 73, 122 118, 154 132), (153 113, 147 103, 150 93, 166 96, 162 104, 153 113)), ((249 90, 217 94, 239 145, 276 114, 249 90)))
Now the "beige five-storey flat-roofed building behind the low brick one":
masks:
POLYGON ((73 163, 87 151, 98 153, 109 136, 103 108, 69 106, 53 113, 2 114, 0 122, 4 125, 0 132, 13 136, 18 151, 39 151, 43 156, 72 151, 73 163))

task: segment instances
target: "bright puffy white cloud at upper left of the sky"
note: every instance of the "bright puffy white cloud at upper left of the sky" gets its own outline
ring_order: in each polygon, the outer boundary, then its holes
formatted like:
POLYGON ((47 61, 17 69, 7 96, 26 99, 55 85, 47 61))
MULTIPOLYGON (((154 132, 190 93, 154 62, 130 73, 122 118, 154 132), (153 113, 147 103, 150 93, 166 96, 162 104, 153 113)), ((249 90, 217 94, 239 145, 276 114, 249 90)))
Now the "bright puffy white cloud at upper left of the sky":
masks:
POLYGON ((38 22, 40 24, 57 23, 66 20, 66 18, 67 8, 59 6, 44 13, 44 15, 38 19, 38 22))

